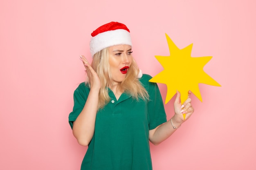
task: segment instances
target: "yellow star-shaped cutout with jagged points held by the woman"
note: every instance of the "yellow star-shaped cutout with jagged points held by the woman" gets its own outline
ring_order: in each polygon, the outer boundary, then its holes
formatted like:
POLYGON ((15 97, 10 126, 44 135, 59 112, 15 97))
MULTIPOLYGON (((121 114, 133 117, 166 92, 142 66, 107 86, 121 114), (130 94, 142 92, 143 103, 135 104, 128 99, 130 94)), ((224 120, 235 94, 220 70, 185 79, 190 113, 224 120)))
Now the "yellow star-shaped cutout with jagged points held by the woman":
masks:
POLYGON ((170 56, 155 56, 164 70, 158 73, 149 82, 163 83, 167 86, 165 104, 175 95, 181 93, 181 103, 185 102, 190 90, 200 101, 199 83, 220 86, 214 79, 203 71, 203 67, 212 57, 191 57, 192 45, 179 49, 166 34, 170 56))

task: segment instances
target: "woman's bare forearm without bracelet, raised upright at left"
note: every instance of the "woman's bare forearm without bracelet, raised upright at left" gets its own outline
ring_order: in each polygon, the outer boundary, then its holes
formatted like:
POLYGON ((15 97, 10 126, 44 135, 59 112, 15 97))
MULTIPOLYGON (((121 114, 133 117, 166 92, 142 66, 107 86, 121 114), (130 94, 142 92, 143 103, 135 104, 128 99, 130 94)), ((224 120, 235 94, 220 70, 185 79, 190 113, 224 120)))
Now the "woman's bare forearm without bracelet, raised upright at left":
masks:
POLYGON ((73 135, 80 145, 88 146, 93 137, 98 103, 99 91, 91 89, 83 110, 73 124, 73 135))

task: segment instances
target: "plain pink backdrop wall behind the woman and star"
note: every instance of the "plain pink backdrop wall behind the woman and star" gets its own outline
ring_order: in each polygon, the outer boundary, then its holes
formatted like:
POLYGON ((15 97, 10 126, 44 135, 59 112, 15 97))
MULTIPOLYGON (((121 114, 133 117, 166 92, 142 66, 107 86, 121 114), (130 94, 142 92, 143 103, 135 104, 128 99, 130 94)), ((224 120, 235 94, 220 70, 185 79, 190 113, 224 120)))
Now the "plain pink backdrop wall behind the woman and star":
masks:
MULTIPOLYGON (((68 124, 84 81, 79 55, 90 33, 118 21, 131 31, 144 73, 163 70, 167 33, 192 57, 213 56, 204 71, 222 87, 200 84, 195 113, 159 146, 154 170, 256 169, 256 1, 5 0, 0 2, 0 169, 79 170, 86 147, 68 124)), ((186 75, 184 77, 186 82, 186 75)), ((175 80, 174 80, 175 81, 175 80)), ((166 86, 159 84, 163 99, 166 86)), ((168 119, 173 99, 166 104, 168 119)))

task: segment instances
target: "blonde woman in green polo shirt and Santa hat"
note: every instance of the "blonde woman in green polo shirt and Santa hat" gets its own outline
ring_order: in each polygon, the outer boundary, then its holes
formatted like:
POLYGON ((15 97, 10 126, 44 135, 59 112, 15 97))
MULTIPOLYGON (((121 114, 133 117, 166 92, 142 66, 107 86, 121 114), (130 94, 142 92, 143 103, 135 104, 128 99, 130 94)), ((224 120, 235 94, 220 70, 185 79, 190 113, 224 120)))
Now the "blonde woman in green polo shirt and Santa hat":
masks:
POLYGON ((181 104, 177 91, 175 115, 166 121, 158 86, 139 70, 124 24, 93 31, 90 51, 92 64, 80 56, 88 78, 74 91, 69 115, 74 137, 88 146, 81 170, 152 170, 149 141, 160 144, 189 119, 191 98, 181 104))

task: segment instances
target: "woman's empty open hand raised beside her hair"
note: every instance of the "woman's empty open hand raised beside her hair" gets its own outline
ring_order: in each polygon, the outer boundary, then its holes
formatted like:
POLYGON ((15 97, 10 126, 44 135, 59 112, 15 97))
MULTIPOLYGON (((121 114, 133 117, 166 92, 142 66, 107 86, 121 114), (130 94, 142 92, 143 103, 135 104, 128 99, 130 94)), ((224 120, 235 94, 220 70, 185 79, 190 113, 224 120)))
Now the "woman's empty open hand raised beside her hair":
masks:
POLYGON ((90 88, 99 90, 101 88, 101 80, 99 79, 98 74, 94 71, 92 66, 89 64, 88 60, 83 55, 80 55, 80 60, 83 62, 83 65, 85 66, 85 72, 88 75, 88 79, 91 86, 90 88))

